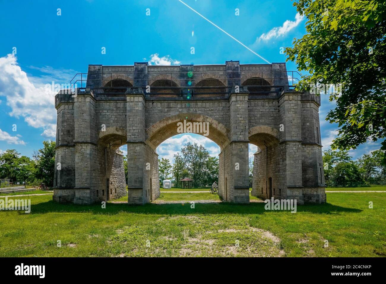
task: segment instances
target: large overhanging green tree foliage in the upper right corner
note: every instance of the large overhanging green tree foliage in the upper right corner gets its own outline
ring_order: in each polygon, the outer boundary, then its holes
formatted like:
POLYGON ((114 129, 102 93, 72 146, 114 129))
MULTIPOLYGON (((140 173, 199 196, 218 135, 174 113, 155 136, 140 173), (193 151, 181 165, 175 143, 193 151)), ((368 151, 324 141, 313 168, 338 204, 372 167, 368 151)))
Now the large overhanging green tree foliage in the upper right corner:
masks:
MULTIPOLYGON (((368 139, 384 139, 386 2, 298 0, 294 6, 307 18, 307 34, 286 48, 287 61, 310 73, 296 89, 342 84, 341 93, 329 95, 336 107, 326 119, 339 127, 332 148, 355 149, 368 139)), ((385 151, 386 141, 382 145, 385 151)))

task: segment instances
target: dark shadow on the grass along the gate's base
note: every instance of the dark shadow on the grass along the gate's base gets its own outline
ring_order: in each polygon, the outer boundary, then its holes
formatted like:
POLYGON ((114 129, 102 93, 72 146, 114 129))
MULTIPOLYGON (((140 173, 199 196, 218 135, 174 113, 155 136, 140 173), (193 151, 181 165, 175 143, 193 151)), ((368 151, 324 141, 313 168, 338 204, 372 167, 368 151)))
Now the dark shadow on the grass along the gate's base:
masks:
MULTIPOLYGON (((41 213, 93 213, 93 214, 118 214, 118 213, 137 213, 137 214, 159 214, 159 215, 190 215, 194 214, 276 214, 282 210, 265 210, 264 203, 250 203, 237 205, 231 203, 205 204, 196 203, 195 208, 190 207, 190 203, 185 204, 146 204, 146 205, 127 205, 126 203, 107 203, 106 208, 101 205, 73 205, 59 204, 54 201, 47 201, 31 205, 32 214, 41 213)), ((355 208, 345 208, 332 205, 330 203, 315 205, 297 206, 297 212, 310 212, 315 214, 338 214, 340 212, 359 213, 362 210, 355 208)), ((290 211, 288 211, 289 213, 290 211)))

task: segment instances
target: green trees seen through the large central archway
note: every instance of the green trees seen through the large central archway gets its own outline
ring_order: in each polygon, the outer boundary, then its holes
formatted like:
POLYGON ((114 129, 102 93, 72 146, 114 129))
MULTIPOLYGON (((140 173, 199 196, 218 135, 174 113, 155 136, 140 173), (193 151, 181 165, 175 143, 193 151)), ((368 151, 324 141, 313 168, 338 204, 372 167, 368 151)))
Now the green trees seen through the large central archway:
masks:
POLYGON ((181 179, 193 179, 194 188, 205 188, 218 183, 218 158, 211 157, 202 145, 185 144, 181 154, 174 154, 174 164, 168 159, 158 160, 159 182, 162 185, 165 179, 173 179, 175 187, 181 187, 181 179))

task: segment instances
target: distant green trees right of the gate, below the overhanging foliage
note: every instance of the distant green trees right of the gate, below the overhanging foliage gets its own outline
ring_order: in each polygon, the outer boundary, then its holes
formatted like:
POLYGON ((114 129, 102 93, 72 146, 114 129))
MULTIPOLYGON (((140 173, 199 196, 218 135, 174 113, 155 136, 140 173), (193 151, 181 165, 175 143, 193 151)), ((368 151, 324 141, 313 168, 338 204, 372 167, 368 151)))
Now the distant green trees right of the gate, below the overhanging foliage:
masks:
POLYGON ((352 161, 347 150, 323 151, 324 179, 330 187, 355 187, 386 183, 384 152, 379 149, 352 161))

